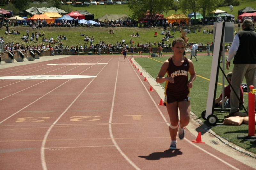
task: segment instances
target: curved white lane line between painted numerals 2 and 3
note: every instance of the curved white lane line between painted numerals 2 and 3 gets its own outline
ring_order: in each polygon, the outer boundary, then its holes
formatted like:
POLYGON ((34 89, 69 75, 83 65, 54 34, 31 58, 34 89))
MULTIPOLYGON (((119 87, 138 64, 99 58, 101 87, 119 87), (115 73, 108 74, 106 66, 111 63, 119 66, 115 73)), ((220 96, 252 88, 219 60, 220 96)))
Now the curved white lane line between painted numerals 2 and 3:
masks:
MULTIPOLYGON (((101 60, 103 60, 103 59, 101 59, 101 60)), ((100 60, 100 61, 101 61, 100 60)), ((111 60, 111 59, 110 59, 111 60)), ((110 61, 109 60, 109 61, 110 61)), ((99 61, 99 62, 100 62, 99 61)), ((108 61, 108 62, 109 62, 108 61)), ((93 65, 92 65, 93 66, 93 65)), ((91 67, 92 67, 91 66, 91 67)), ((96 76, 98 76, 99 74, 100 74, 100 72, 105 68, 107 66, 107 64, 106 65, 104 65, 104 67, 99 71, 99 73, 96 75, 96 76)), ((89 67, 90 68, 90 67, 89 67)), ((86 69, 87 70, 87 69, 86 69)), ((85 71, 85 70, 84 70, 85 71)), ((83 73, 84 71, 82 71, 81 73, 83 73)), ((81 74, 81 73, 79 73, 79 74, 81 74)), ((96 78, 96 77, 95 77, 96 78)), ((48 137, 48 135, 50 134, 50 131, 52 130, 52 128, 53 128, 53 126, 60 120, 60 118, 68 111, 68 109, 76 102, 76 100, 81 96, 81 94, 85 91, 85 89, 92 83, 92 81, 95 79, 95 78, 93 78, 91 81, 90 81, 90 83, 88 84, 88 85, 86 85, 85 87, 84 87, 84 89, 77 95, 77 97, 69 104, 69 106, 60 114, 60 116, 55 120, 55 122, 53 122, 52 123, 52 125, 49 127, 49 129, 47 130, 47 132, 45 133, 45 135, 44 135, 44 139, 43 139, 43 142, 42 142, 42 145, 41 145, 41 164, 42 164, 42 168, 43 168, 43 170, 47 170, 47 166, 46 166, 46 161, 45 161, 45 154, 44 154, 44 146, 45 146, 45 143, 46 143, 46 140, 47 140, 47 137, 48 137)), ((69 80, 68 80, 69 81, 69 80)), ((68 82, 67 81, 67 82, 68 82)))

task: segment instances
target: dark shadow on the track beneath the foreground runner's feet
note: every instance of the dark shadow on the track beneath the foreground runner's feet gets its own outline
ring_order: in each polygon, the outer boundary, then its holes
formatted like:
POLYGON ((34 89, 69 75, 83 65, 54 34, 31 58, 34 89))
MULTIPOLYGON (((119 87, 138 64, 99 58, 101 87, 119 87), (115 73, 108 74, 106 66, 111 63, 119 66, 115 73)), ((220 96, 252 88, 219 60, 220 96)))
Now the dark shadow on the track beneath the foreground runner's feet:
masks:
POLYGON ((154 152, 154 153, 150 153, 148 156, 138 156, 138 157, 145 158, 147 160, 159 160, 161 158, 171 158, 178 155, 182 155, 182 152, 180 152, 180 149, 176 149, 176 150, 168 149, 164 152, 154 152))

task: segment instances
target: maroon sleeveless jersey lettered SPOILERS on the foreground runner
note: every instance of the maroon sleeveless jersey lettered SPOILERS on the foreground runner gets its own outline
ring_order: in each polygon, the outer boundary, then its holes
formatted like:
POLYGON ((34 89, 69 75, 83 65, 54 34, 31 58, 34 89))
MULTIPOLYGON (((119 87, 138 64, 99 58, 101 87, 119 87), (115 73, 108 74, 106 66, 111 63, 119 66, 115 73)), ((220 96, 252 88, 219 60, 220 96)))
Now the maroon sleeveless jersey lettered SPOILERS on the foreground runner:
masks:
POLYGON ((189 95, 188 84, 188 58, 184 57, 184 62, 180 66, 174 65, 172 57, 168 59, 169 67, 167 70, 167 76, 174 79, 174 83, 166 81, 165 84, 165 96, 171 94, 172 96, 189 95))

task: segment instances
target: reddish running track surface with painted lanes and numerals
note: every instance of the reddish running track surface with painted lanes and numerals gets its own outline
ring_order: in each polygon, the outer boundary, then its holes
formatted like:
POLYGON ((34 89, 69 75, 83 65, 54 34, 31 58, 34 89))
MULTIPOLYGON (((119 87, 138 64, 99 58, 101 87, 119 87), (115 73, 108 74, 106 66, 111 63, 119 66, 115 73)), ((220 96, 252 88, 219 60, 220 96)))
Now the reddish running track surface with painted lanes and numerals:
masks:
POLYGON ((166 108, 122 56, 70 56, 0 70, 1 77, 21 75, 97 77, 0 79, 1 170, 253 169, 192 143, 188 129, 178 149, 169 150, 166 108))

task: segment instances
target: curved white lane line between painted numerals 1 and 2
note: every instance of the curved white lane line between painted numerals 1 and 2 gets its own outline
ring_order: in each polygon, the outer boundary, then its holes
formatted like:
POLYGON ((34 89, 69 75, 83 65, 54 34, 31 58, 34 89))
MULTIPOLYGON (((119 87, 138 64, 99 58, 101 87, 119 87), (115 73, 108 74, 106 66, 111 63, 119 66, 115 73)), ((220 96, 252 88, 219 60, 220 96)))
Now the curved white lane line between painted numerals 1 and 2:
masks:
POLYGON ((118 144, 116 143, 116 140, 113 136, 113 132, 112 132, 112 117, 113 117, 113 110, 114 110, 114 104, 115 104, 115 96, 116 96, 116 84, 117 84, 117 77, 118 77, 118 70, 119 70, 119 63, 120 63, 120 57, 118 59, 118 65, 117 65, 117 71, 116 71, 116 82, 115 82, 115 88, 114 88, 114 95, 113 95, 113 99, 112 99, 112 104, 111 104, 111 110, 110 110, 110 115, 109 115, 109 124, 108 124, 108 129, 109 129, 109 135, 110 138, 113 142, 113 144, 116 146, 116 149, 118 150, 118 152, 124 157, 124 159, 127 160, 127 162, 129 162, 135 169, 139 170, 140 168, 138 166, 136 166, 131 159, 129 159, 124 152, 120 149, 120 147, 118 146, 118 144))

